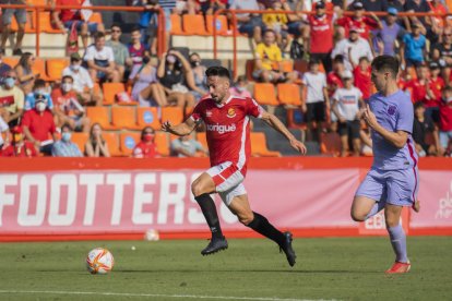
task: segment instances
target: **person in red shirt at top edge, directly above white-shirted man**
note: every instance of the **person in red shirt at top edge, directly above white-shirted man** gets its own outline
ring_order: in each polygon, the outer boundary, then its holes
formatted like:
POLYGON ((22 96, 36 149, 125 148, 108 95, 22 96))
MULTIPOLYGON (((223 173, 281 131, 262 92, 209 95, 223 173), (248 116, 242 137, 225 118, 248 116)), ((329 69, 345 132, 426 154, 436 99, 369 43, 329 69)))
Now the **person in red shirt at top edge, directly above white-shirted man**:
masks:
POLYGON ((353 3, 353 15, 344 16, 336 21, 336 25, 344 27, 345 36, 348 37, 348 31, 352 27, 357 27, 361 38, 369 39, 371 29, 383 29, 383 25, 374 13, 370 13, 371 17, 362 15, 362 2, 355 1, 353 3))

